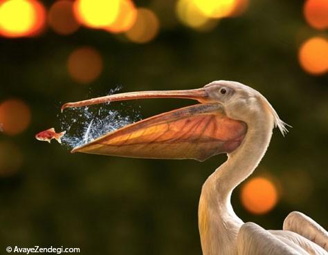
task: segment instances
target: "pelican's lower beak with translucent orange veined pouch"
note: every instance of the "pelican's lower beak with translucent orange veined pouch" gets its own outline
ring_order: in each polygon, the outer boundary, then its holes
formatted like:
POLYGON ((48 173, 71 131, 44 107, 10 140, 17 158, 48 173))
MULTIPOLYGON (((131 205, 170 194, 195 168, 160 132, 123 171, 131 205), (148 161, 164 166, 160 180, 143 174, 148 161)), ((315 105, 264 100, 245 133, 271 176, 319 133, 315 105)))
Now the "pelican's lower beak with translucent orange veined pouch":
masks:
POLYGON ((196 104, 129 124, 73 152, 203 161, 234 151, 246 129, 227 117, 221 104, 196 104))

